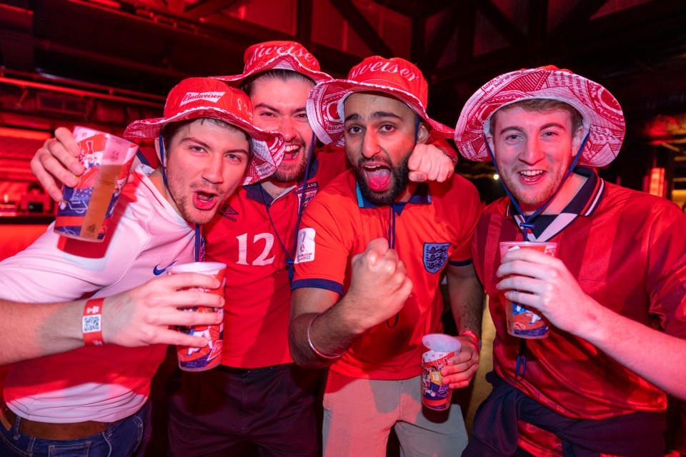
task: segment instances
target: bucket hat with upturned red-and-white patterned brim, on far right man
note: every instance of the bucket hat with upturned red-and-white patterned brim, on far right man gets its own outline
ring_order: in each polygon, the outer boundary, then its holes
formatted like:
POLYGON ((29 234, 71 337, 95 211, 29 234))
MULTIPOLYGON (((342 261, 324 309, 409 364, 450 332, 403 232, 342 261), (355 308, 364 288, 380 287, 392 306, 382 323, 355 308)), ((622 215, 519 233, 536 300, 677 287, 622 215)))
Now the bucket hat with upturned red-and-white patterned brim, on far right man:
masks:
POLYGON ((600 84, 552 65, 502 74, 476 91, 455 127, 460 154, 472 161, 490 160, 485 135, 493 113, 525 99, 563 101, 579 111, 588 134, 580 165, 605 166, 619 154, 626 130, 619 102, 600 84))

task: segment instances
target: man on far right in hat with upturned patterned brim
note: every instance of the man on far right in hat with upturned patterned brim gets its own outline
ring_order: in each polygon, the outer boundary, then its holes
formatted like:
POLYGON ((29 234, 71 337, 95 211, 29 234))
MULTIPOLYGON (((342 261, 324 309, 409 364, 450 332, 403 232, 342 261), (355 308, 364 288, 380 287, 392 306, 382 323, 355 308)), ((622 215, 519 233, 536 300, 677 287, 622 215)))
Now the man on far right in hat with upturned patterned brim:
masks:
POLYGON ((497 76, 465 104, 457 146, 493 160, 508 196, 472 246, 497 333, 463 456, 664 453, 661 389, 686 396, 686 216, 600 179, 624 134, 607 89, 554 66, 497 76), (501 258, 499 242, 522 240, 557 242, 557 258, 501 258), (540 311, 550 336, 509 335, 506 298, 540 311))

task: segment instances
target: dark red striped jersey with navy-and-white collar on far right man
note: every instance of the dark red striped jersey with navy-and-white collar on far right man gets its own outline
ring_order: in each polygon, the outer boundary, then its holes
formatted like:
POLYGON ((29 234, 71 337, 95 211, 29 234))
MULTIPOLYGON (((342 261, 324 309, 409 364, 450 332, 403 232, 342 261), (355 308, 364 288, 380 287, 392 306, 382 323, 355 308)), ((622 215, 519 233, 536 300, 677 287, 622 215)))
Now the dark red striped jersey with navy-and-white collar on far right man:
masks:
MULTIPOLYGON (((582 189, 561 214, 535 219, 530 241, 557 241, 557 257, 598 303, 686 338, 686 216, 670 201, 605 183, 591 169, 577 173, 587 177, 582 189)), ((664 411, 660 389, 554 326, 548 338, 527 340, 525 376, 515 376, 521 340, 507 333, 504 298, 495 289, 499 241, 522 240, 510 211, 507 198, 489 205, 472 246, 497 329, 493 357, 498 376, 570 418, 664 411)))

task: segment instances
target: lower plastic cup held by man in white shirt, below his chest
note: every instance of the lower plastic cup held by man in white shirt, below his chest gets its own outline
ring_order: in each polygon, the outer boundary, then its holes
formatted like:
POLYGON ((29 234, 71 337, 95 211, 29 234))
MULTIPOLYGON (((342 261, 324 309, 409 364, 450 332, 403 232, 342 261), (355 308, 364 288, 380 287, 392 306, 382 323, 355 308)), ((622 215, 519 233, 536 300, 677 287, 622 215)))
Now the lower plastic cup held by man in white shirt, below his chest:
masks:
MULTIPOLYGON (((222 283, 219 288, 190 288, 190 290, 216 293, 223 297, 224 286, 227 283, 226 278, 224 277, 226 268, 226 263, 193 262, 174 265, 169 268, 169 273, 202 273, 212 275, 222 283)), ((197 308, 187 308, 187 311, 196 311, 198 313, 213 313, 219 311, 219 313, 224 316, 224 310, 222 308, 207 308, 207 306, 200 306, 197 308)), ((209 344, 203 348, 177 346, 179 368, 184 371, 205 371, 219 365, 219 362, 222 360, 222 346, 224 343, 223 320, 221 323, 212 326, 178 327, 178 330, 191 336, 209 338, 209 344)))

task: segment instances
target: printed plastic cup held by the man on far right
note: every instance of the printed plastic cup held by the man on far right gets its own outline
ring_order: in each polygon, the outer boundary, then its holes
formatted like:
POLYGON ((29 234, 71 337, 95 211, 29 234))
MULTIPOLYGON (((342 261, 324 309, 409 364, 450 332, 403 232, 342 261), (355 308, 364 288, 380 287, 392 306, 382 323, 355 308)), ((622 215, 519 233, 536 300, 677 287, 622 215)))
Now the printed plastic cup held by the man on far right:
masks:
MULTIPOLYGON (((557 257, 557 243, 553 241, 501 241, 500 257, 512 249, 535 249, 549 256, 557 257)), ((548 324, 536 311, 505 298, 507 333, 519 338, 547 338, 548 324)))

